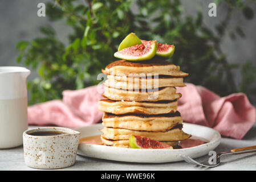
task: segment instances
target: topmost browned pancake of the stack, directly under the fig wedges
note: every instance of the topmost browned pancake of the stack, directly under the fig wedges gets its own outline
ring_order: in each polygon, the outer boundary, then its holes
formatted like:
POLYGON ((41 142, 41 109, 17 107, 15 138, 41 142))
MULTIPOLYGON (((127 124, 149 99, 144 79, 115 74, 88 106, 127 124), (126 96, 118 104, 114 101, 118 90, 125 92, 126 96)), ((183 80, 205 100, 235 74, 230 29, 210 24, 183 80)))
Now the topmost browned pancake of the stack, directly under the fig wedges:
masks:
POLYGON ((180 67, 166 60, 151 59, 147 61, 117 60, 102 70, 107 75, 128 76, 129 74, 159 74, 176 77, 188 76, 188 73, 180 71, 180 67))

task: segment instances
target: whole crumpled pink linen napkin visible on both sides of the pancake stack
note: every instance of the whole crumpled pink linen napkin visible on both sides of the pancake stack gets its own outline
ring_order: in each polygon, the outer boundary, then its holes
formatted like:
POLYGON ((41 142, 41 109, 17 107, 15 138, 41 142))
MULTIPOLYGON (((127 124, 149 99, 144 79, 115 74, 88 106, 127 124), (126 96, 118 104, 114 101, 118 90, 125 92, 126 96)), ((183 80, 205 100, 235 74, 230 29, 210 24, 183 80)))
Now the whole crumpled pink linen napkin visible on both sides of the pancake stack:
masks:
MULTIPOLYGON (((256 110, 243 93, 220 97, 203 86, 186 84, 177 88, 182 94, 178 110, 185 122, 218 130, 221 135, 242 139, 253 126, 256 110)), ((102 85, 80 90, 65 90, 63 100, 54 100, 30 106, 30 125, 57 125, 82 127, 100 121, 103 113, 97 109, 102 98, 102 85)))

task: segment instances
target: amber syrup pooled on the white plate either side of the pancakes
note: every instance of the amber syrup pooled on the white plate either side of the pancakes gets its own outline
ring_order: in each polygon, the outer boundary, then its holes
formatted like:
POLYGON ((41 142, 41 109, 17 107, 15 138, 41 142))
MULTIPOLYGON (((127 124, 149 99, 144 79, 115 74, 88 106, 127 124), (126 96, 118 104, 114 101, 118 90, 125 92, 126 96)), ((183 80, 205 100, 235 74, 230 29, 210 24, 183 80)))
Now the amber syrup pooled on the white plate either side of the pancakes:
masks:
MULTIPOLYGON (((88 143, 88 144, 101 144, 100 135, 90 136, 90 137, 84 137, 79 140, 79 142, 82 143, 88 143)), ((198 138, 198 137, 192 137, 191 139, 186 139, 180 142, 178 148, 189 148, 189 147, 196 147, 200 146, 200 144, 205 144, 208 142, 205 142, 205 139, 198 138)), ((178 149, 174 148, 174 149, 178 149)))

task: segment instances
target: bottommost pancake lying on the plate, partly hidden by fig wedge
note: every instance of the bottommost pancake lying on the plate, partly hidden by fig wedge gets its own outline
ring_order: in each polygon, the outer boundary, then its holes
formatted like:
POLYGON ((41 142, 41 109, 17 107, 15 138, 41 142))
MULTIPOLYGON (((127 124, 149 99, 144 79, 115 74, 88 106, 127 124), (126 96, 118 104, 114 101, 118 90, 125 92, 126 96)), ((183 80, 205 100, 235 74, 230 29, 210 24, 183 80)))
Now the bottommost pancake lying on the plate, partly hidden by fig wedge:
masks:
MULTIPOLYGON (((104 138, 102 135, 100 138, 101 138, 102 144, 104 144, 105 146, 130 148, 129 140, 109 140, 104 138)), ((174 142, 162 141, 162 143, 168 144, 169 146, 177 146, 178 144, 177 141, 174 141, 174 142)))

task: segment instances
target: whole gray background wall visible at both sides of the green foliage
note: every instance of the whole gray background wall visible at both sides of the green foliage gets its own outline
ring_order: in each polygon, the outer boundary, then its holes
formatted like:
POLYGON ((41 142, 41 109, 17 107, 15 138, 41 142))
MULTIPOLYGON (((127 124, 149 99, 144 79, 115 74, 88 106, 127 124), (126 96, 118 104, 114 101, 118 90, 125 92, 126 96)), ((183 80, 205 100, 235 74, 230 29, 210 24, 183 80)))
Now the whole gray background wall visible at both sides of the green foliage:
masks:
MULTIPOLYGON (((51 24, 56 29, 58 37, 67 43, 67 34, 72 30, 65 25, 64 22, 51 23, 46 18, 37 16, 37 5, 39 2, 47 2, 46 0, 1 0, 0 1, 0 66, 19 65, 16 63, 18 52, 15 46, 19 40, 31 40, 40 36, 39 27, 45 24, 51 24)), ((215 24, 220 21, 226 11, 224 6, 217 7, 217 17, 208 16, 208 4, 213 1, 209 0, 182 0, 186 14, 196 15, 198 5, 202 5, 204 12, 204 23, 210 28, 214 28, 215 24)), ((256 13, 256 4, 252 3, 251 7, 256 13)), ((47 16, 47 15, 46 15, 47 16)), ((255 14, 256 16, 256 14, 255 14)), ((225 36, 222 49, 227 55, 230 63, 242 64, 246 60, 253 60, 256 65, 256 21, 246 20, 241 13, 235 13, 231 19, 230 27, 239 23, 243 27, 246 38, 239 38, 231 41, 229 36, 225 36)), ((234 71, 235 80, 240 81, 240 74, 234 71)), ((33 71, 29 80, 36 76, 33 71)), ((256 85, 256 83, 255 83, 256 85)))

